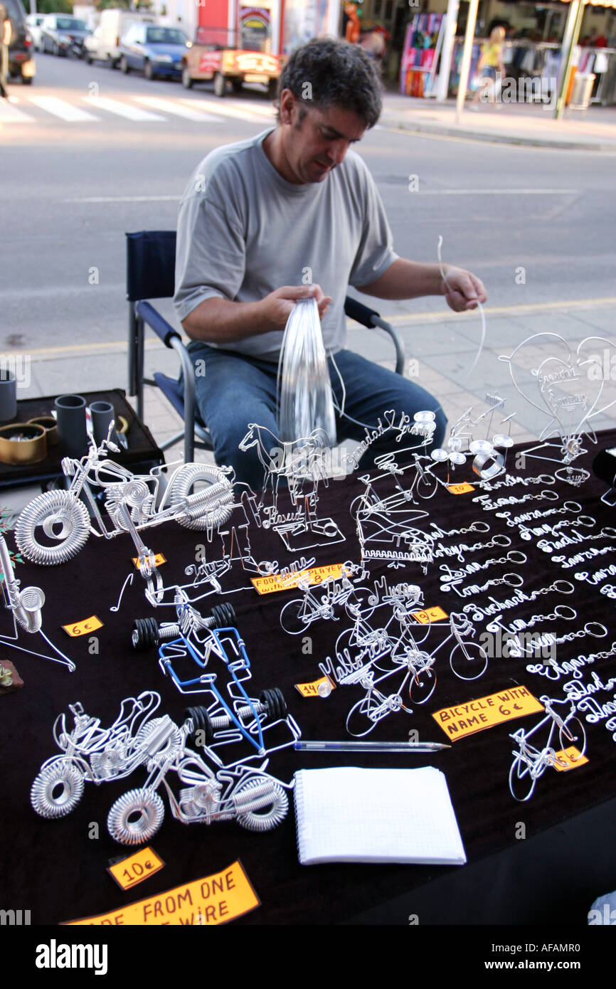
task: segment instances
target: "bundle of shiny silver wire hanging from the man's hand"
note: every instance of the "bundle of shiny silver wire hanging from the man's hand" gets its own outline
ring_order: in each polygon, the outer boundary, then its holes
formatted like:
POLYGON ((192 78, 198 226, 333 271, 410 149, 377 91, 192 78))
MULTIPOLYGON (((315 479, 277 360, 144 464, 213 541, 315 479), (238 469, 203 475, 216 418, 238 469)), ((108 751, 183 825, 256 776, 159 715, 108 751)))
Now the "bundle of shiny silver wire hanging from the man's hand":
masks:
POLYGON ((278 362, 280 439, 293 442, 323 429, 336 444, 333 397, 314 298, 300 299, 285 326, 278 362))

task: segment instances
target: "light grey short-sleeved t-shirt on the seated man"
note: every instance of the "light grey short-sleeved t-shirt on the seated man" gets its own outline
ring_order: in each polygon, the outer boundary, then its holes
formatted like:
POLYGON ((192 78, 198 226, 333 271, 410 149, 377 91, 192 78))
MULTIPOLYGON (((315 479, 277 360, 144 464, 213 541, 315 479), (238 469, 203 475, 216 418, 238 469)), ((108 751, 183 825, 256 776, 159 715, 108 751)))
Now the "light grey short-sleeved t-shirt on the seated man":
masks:
MULTIPOLYGON (((322 182, 295 185, 263 150, 271 130, 217 148, 191 176, 178 218, 175 309, 184 319, 213 296, 257 302, 313 282, 332 299, 321 327, 335 353, 345 344, 347 285, 370 285, 393 264, 392 231, 358 154, 347 151, 322 182)), ((275 361, 281 342, 275 330, 218 345, 275 361)))

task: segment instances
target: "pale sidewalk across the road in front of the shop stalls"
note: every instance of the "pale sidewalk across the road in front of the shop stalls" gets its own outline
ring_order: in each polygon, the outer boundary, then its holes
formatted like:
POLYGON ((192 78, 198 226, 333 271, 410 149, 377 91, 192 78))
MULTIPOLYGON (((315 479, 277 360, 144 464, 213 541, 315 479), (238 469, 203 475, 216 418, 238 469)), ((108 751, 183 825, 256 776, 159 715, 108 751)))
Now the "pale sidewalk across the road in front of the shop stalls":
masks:
POLYGON ((480 103, 474 113, 467 100, 456 123, 456 101, 415 99, 389 92, 384 99, 380 127, 414 134, 468 137, 497 143, 526 144, 565 150, 616 152, 616 107, 590 106, 585 112, 566 109, 561 121, 554 109, 538 103, 500 103, 496 110, 480 103))

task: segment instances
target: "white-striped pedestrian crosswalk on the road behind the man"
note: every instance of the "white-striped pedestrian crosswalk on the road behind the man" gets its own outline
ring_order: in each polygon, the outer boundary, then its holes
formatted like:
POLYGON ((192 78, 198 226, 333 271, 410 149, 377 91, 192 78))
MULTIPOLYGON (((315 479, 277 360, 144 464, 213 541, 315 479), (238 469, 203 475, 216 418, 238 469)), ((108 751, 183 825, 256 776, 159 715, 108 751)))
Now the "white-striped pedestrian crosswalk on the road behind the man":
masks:
POLYGON ((240 100, 205 99, 202 103, 191 98, 167 98, 163 96, 137 96, 120 94, 117 97, 83 96, 69 97, 29 93, 10 102, 0 100, 0 128, 5 125, 42 124, 50 119, 67 124, 97 124, 122 118, 134 124, 162 123, 180 118, 196 124, 222 124, 230 119, 267 127, 274 122, 275 111, 269 103, 249 105, 240 100))

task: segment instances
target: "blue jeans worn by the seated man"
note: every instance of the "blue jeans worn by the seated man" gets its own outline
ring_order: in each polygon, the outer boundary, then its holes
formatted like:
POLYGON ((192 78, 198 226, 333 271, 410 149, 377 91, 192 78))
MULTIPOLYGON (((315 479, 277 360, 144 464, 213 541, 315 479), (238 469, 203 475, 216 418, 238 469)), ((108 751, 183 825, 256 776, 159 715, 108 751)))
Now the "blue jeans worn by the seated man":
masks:
MULTIPOLYGON (((194 363, 200 365, 196 376, 196 403, 203 421, 207 424, 214 443, 217 464, 232 467, 238 481, 245 481, 254 491, 263 487, 263 466, 256 448, 238 450, 240 440, 248 431, 248 424, 256 422, 278 436, 276 421, 276 379, 278 365, 229 350, 210 347, 193 340, 189 352, 194 363)), ((334 404, 342 407, 343 390, 338 372, 344 381, 344 414, 336 412, 338 439, 363 440, 365 426, 374 428, 379 417, 388 409, 412 414, 423 409, 435 413, 436 429, 431 447, 441 446, 445 438, 447 418, 441 405, 428 392, 401 375, 366 360, 351 350, 340 350, 334 355, 335 365, 329 357, 329 378, 334 404), (356 422, 352 421, 357 420, 356 422)), ((418 442, 412 437, 412 442, 418 442)), ((402 444, 411 445, 410 443, 402 444)), ((387 450, 398 450, 391 432, 385 433, 362 456, 359 469, 370 470, 374 458, 387 450)))

